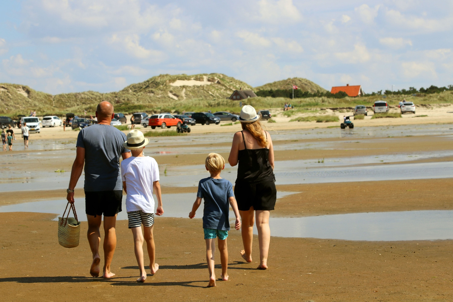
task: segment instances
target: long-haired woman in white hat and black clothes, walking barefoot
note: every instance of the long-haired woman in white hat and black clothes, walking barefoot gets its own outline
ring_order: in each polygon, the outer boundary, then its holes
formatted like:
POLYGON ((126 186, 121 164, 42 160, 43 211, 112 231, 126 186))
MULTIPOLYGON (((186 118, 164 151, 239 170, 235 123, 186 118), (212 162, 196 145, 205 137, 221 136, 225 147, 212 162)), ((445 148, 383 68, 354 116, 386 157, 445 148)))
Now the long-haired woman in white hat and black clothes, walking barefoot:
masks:
POLYGON ((258 229, 260 245, 260 265, 258 269, 267 268, 269 252, 270 211, 274 210, 277 190, 274 176, 274 148, 270 134, 261 128, 260 116, 251 105, 242 107, 242 131, 233 136, 228 162, 237 168, 234 195, 242 219, 242 258, 252 262, 253 224, 258 229))

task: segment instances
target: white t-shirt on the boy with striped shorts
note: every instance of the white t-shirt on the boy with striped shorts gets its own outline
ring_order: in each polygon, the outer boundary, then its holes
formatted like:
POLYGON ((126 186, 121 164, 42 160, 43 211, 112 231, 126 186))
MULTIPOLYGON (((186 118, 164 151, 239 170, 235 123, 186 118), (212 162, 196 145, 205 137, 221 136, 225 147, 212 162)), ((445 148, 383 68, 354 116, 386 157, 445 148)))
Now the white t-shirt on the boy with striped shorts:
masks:
POLYGON ((126 182, 126 211, 154 213, 153 182, 159 180, 156 160, 149 156, 124 159, 121 178, 126 182))

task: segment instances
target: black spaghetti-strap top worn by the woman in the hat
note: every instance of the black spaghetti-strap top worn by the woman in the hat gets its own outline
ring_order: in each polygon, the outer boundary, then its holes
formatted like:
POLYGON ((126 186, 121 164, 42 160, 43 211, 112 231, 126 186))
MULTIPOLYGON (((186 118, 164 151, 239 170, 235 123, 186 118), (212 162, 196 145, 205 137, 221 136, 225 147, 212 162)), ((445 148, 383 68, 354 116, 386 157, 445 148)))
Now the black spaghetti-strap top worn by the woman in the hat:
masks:
MULTIPOLYGON (((274 171, 269 163, 269 149, 247 149, 244 133, 241 131, 244 150, 238 153, 238 168, 236 182, 274 181, 274 171)), ((266 133, 267 140, 267 133, 266 133)))

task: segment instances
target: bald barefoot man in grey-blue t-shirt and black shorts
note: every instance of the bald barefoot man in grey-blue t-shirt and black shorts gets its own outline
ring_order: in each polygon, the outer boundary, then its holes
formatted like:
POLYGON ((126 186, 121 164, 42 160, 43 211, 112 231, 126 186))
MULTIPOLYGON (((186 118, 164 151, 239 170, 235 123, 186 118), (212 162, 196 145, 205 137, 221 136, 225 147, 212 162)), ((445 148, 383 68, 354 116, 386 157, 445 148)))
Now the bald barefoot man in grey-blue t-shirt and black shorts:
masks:
POLYGON ((116 248, 116 215, 121 211, 123 184, 120 173, 120 156, 130 157, 123 146, 126 135, 110 125, 113 105, 103 101, 96 108, 97 124, 80 130, 76 144, 76 159, 72 164, 67 201, 74 203, 74 188, 85 164, 85 212, 88 220, 87 237, 93 254, 90 274, 99 276, 99 243, 101 221, 104 215, 104 268, 103 278, 115 276, 110 270, 116 248))

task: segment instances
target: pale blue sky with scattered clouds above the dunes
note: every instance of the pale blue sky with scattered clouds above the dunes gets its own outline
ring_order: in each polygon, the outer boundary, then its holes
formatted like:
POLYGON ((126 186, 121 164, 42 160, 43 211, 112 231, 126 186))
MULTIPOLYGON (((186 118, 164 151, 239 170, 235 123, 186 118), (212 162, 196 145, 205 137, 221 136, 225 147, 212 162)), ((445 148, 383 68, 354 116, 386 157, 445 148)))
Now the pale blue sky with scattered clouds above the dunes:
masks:
POLYGON ((0 83, 110 92, 218 72, 366 93, 448 86, 452 37, 451 0, 1 0, 0 83))

